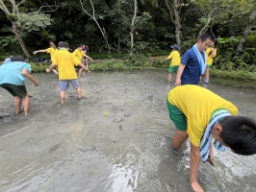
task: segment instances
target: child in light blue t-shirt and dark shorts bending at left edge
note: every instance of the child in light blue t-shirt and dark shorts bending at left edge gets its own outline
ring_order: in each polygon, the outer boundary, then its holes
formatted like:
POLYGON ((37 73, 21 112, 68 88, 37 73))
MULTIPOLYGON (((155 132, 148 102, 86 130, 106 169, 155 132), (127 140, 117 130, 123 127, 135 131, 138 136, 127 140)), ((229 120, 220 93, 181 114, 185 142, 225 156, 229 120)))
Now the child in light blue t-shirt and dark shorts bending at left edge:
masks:
POLYGON ((26 63, 21 56, 10 57, 0 66, 0 86, 10 92, 14 97, 15 113, 21 112, 21 103, 24 113, 29 113, 29 95, 25 86, 26 78, 38 86, 31 73, 31 65, 26 63))

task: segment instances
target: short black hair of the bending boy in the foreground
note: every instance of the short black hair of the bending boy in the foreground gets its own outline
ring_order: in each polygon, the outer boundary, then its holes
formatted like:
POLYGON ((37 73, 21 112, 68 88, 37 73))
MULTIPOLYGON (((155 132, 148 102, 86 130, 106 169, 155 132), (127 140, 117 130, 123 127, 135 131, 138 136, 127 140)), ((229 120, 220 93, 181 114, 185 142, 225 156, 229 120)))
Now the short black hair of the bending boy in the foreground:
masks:
POLYGON ((219 121, 223 142, 239 155, 256 154, 256 121, 246 116, 228 116, 219 121))

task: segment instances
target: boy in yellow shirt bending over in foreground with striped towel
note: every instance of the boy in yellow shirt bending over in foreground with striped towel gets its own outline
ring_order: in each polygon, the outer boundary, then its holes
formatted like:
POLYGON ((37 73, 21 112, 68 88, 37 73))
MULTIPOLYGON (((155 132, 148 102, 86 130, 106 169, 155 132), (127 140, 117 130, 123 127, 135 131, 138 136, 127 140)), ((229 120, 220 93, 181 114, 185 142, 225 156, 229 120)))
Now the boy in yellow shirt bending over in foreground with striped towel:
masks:
POLYGON ((184 141, 191 140, 190 182, 192 190, 203 192, 197 181, 200 159, 212 161, 212 136, 215 147, 226 147, 234 153, 256 154, 256 122, 245 116, 235 116, 238 108, 212 91, 198 85, 176 86, 166 98, 169 118, 177 128, 171 146, 177 152, 184 141))

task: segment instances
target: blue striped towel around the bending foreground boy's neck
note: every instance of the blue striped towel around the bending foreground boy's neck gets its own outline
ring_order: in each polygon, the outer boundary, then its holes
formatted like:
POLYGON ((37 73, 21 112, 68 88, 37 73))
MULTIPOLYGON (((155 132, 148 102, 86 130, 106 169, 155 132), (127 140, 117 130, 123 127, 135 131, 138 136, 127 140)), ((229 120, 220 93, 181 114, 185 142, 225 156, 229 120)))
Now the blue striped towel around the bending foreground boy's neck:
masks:
MULTIPOLYGON (((210 153, 210 144, 212 141, 212 130, 214 126, 224 117, 230 116, 230 112, 225 109, 220 109, 218 112, 211 118, 210 123, 208 124, 200 142, 200 156, 203 161, 206 161, 210 153)), ((220 152, 224 152, 226 147, 222 145, 218 140, 214 142, 215 148, 220 152)))

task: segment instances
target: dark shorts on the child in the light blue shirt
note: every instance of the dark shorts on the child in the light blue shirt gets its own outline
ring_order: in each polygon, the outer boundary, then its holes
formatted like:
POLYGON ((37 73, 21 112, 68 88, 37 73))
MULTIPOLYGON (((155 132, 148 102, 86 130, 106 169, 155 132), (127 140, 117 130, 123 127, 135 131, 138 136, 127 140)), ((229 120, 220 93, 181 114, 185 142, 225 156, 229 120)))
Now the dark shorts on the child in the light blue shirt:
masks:
POLYGON ((0 84, 0 86, 10 92, 13 97, 19 97, 20 99, 22 99, 28 94, 25 84, 0 84))

